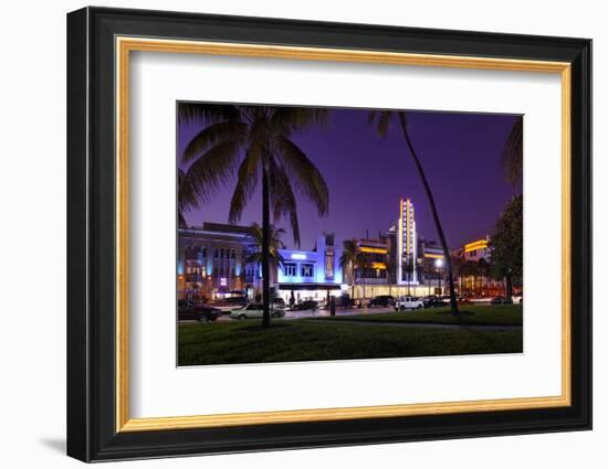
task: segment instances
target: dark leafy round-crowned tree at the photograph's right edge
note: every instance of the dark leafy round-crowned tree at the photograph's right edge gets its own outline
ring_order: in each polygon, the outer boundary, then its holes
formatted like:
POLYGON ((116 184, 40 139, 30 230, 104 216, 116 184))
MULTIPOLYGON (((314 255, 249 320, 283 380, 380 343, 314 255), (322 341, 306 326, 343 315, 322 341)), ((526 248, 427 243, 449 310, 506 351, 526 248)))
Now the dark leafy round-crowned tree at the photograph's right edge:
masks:
POLYGON ((492 274, 506 283, 506 297, 513 296, 513 283, 522 281, 524 253, 523 196, 509 202, 496 221, 490 238, 492 274))

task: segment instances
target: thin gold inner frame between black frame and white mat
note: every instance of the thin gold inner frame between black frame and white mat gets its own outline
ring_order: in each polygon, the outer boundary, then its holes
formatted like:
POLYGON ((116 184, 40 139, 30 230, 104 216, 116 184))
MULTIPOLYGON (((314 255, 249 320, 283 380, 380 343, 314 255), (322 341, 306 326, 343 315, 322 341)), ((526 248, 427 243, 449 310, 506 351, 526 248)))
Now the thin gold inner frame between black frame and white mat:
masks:
POLYGON ((409 54, 360 50, 234 44, 117 36, 116 51, 116 431, 149 431, 237 425, 396 417, 461 412, 495 412, 569 406, 570 393, 570 64, 489 57, 409 54), (336 407, 280 412, 130 418, 128 359, 128 109, 132 51, 359 62, 517 72, 546 72, 562 78, 562 394, 463 402, 336 407))

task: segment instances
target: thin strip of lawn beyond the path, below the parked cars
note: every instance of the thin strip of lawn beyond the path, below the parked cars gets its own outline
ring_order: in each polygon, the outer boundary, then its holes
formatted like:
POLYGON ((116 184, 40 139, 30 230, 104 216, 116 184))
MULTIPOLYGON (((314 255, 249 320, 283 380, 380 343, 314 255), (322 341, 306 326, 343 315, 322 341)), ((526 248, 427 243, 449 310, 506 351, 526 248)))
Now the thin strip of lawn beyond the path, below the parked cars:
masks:
POLYGON ((370 322, 431 322, 436 324, 522 326, 522 305, 467 305, 460 316, 450 315, 450 308, 430 308, 407 312, 363 313, 316 318, 324 321, 370 321, 370 322))

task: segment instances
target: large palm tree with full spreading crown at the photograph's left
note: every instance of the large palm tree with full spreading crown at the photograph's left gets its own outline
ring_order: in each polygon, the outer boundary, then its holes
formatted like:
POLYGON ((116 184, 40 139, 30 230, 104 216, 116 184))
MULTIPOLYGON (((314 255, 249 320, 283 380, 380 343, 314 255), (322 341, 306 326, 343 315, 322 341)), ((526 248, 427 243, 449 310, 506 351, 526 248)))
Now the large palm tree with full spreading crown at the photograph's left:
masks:
POLYGON ((328 213, 327 185, 318 169, 292 140, 295 132, 322 122, 326 111, 314 108, 271 106, 217 106, 180 104, 179 119, 206 124, 188 143, 182 162, 190 163, 187 183, 200 200, 208 200, 232 178, 237 185, 230 202, 229 223, 237 223, 262 181, 263 326, 270 326, 270 211, 274 221, 290 221, 300 246, 300 225, 294 188, 328 213))

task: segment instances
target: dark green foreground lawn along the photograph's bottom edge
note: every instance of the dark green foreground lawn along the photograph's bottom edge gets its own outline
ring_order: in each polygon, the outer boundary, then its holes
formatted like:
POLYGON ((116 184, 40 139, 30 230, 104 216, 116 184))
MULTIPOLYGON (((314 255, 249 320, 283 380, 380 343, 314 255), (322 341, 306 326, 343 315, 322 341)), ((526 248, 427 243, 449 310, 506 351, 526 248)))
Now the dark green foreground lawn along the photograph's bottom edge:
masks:
POLYGON ((522 329, 481 331, 321 320, 180 324, 179 365, 520 353, 522 329))

